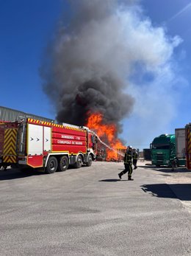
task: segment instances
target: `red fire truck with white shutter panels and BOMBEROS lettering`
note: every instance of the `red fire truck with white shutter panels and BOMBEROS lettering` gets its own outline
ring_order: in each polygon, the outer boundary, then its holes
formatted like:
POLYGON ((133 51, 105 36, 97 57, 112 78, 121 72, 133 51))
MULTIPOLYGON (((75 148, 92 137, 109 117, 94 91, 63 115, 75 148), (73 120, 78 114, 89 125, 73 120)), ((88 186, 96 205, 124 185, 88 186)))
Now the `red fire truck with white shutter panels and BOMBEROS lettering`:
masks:
POLYGON ((90 166, 97 137, 86 127, 26 119, 0 125, 0 165, 43 167, 46 173, 64 171, 68 165, 90 166))

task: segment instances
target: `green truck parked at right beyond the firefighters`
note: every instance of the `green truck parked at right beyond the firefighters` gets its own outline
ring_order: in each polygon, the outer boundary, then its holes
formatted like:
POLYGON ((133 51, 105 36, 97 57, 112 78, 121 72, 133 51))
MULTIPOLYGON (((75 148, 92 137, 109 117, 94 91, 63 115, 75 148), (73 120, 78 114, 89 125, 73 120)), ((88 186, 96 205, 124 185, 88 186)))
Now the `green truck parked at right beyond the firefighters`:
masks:
POLYGON ((175 129, 175 134, 162 134, 151 143, 151 162, 156 166, 179 167, 186 165, 185 129, 175 129))

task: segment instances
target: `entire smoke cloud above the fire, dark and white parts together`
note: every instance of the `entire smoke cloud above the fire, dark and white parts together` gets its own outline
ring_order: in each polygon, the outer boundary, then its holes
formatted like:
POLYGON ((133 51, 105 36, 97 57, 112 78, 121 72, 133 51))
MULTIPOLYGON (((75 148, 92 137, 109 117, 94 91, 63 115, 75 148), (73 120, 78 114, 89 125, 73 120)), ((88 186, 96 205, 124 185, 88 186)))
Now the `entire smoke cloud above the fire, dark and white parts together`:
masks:
POLYGON ((120 132, 122 120, 131 114, 142 117, 149 108, 151 117, 150 103, 156 111, 158 96, 165 95, 159 77, 167 76, 168 82, 173 77, 173 49, 181 39, 152 26, 137 1, 69 3, 71 19, 66 24, 60 18, 41 69, 57 121, 84 125, 88 113, 99 112, 120 132))

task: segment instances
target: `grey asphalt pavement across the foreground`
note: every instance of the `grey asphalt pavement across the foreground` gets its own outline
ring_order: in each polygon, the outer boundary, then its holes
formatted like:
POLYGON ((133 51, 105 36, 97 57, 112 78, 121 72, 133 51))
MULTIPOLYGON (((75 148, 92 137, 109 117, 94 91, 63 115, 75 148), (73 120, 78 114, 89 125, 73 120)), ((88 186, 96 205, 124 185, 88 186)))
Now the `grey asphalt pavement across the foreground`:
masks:
POLYGON ((191 255, 191 173, 138 162, 0 171, 0 255, 191 255))

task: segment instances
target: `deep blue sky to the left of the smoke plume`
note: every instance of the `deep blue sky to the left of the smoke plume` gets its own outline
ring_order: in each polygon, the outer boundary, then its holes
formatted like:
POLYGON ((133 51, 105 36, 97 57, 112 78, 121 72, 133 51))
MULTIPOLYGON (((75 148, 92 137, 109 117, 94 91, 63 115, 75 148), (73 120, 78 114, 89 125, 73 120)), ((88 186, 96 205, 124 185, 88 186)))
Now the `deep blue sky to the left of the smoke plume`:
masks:
POLYGON ((0 105, 54 118, 39 68, 61 7, 52 0, 0 1, 0 105))

